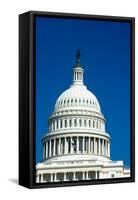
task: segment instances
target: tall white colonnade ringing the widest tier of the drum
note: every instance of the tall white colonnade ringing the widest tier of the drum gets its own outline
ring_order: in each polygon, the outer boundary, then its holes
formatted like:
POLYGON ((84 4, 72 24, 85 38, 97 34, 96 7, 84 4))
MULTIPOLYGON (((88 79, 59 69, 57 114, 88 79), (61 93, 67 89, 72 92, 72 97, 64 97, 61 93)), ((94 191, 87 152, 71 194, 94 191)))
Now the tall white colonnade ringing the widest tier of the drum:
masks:
POLYGON ((109 140, 88 136, 66 136, 43 141, 43 159, 52 156, 88 153, 110 157, 109 140))

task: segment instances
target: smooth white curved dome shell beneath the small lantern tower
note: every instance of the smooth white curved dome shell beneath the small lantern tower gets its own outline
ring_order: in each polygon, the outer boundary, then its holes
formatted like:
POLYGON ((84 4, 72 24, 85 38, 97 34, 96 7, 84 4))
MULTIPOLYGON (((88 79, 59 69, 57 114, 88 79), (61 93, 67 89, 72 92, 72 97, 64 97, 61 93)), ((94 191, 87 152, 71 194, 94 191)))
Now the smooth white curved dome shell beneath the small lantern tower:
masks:
POLYGON ((84 109, 101 113, 96 96, 85 85, 73 84, 57 99, 55 112, 66 109, 84 109))

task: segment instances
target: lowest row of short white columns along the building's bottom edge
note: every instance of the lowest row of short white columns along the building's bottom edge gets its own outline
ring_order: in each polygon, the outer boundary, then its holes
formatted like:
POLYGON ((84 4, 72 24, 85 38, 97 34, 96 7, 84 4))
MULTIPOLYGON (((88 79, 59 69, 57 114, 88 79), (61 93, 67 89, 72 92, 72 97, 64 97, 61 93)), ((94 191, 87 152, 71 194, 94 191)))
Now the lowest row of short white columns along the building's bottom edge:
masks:
POLYGON ((99 171, 44 173, 36 176, 37 183, 99 179, 99 171))

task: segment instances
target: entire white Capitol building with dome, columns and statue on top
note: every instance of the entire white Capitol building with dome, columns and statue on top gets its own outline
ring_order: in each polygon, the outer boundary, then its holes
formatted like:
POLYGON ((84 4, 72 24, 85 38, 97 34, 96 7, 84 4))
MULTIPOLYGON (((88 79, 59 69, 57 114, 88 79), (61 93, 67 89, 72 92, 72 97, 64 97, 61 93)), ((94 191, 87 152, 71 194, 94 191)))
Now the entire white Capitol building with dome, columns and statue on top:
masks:
POLYGON ((36 182, 129 177, 123 161, 110 159, 110 135, 96 96, 83 83, 80 51, 76 54, 73 83, 56 101, 42 137, 42 162, 36 182))

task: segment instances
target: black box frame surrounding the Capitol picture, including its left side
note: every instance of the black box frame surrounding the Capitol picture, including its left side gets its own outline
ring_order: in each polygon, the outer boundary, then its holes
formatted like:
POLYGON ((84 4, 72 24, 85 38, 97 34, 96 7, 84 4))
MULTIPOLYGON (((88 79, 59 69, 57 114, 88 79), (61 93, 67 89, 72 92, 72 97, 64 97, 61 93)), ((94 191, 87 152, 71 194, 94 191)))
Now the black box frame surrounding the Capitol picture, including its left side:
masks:
POLYGON ((29 11, 19 15, 19 184, 27 188, 135 181, 135 18, 29 11), (78 182, 35 182, 35 17, 95 19, 131 23, 131 177, 78 182))

